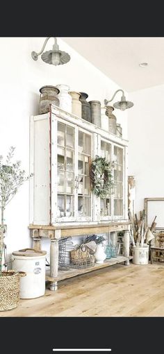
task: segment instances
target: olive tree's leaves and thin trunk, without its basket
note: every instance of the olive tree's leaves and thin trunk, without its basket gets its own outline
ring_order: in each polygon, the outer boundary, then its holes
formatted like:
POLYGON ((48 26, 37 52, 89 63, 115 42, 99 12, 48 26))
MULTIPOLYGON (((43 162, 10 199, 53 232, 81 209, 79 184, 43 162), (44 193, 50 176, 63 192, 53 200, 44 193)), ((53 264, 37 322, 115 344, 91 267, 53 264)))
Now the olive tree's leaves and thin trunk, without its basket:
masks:
POLYGON ((13 199, 19 187, 33 174, 26 176, 24 169, 21 169, 21 161, 13 162, 15 147, 10 146, 6 160, 0 156, 0 208, 1 208, 1 225, 0 225, 0 276, 2 269, 2 256, 5 247, 4 244, 4 211, 6 205, 13 199))

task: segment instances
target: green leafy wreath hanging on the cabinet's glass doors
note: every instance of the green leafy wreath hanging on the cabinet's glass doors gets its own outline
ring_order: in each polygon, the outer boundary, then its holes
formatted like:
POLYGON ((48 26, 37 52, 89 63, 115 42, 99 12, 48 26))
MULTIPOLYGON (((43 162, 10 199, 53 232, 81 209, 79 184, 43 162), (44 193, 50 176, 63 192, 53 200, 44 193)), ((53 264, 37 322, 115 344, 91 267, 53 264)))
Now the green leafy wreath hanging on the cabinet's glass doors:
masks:
POLYGON ((106 198, 109 194, 113 194, 113 168, 114 163, 106 161, 96 155, 95 160, 90 165, 90 180, 92 182, 92 190, 94 194, 101 198, 106 198))

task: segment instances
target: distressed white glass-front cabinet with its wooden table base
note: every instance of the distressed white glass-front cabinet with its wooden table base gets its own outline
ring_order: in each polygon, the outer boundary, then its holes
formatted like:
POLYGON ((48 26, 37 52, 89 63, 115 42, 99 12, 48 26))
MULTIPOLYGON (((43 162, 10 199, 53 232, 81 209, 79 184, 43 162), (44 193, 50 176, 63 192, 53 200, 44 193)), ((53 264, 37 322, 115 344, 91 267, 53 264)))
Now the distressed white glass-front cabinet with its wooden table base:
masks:
POLYGON ((50 105, 50 112, 32 116, 30 124, 33 178, 30 181, 29 228, 36 248, 40 248, 41 237, 51 239, 50 253, 54 261, 50 264, 50 280, 51 289, 56 289, 58 238, 129 228, 128 144, 107 129, 98 128, 54 105, 50 105), (106 199, 92 193, 90 162, 96 155, 115 163, 115 189, 106 199))

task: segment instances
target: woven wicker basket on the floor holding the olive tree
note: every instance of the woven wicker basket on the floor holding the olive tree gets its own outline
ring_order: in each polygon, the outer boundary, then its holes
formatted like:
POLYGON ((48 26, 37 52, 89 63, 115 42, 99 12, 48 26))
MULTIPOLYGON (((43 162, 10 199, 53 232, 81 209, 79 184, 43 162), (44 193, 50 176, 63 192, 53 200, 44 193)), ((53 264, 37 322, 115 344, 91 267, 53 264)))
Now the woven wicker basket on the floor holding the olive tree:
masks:
POLYGON ((3 271, 0 276, 0 311, 12 310, 19 303, 19 279, 24 272, 3 271))

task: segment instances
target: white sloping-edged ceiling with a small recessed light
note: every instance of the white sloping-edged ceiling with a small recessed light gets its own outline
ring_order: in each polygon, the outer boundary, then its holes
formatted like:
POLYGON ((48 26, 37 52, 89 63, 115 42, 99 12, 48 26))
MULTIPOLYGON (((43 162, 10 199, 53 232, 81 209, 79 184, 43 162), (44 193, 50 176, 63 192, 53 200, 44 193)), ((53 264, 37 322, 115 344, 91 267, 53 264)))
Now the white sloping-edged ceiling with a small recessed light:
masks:
POLYGON ((61 39, 127 92, 164 83, 164 37, 61 39), (140 67, 140 62, 149 65, 140 67))

